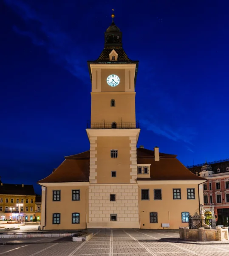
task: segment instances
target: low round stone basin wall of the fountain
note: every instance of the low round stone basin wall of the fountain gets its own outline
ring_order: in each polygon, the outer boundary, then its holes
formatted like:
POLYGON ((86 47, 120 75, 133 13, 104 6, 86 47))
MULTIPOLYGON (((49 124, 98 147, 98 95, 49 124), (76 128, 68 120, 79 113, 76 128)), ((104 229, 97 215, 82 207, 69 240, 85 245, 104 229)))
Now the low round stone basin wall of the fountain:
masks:
POLYGON ((216 227, 213 229, 189 229, 188 227, 180 227, 180 239, 185 241, 226 241, 228 240, 227 227, 216 227))

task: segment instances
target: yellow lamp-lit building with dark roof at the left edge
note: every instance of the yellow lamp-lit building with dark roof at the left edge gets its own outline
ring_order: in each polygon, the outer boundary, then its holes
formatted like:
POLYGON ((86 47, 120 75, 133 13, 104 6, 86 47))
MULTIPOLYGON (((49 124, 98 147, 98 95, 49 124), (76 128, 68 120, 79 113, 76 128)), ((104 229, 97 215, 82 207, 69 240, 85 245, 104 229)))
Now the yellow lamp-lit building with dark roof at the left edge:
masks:
MULTIPOLYGON (((0 180, 0 220, 32 221, 36 212, 33 185, 7 184, 0 180)), ((40 213, 39 215, 40 218, 40 213)))

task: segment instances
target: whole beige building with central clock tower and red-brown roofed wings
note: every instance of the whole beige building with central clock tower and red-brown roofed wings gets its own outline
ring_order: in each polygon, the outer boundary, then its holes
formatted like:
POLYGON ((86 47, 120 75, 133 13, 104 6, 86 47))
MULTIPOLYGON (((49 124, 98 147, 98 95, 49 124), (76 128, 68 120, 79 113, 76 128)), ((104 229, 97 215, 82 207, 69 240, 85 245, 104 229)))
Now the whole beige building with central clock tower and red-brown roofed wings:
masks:
POLYGON ((158 147, 137 148, 138 64, 127 57, 122 32, 112 22, 99 58, 88 61, 90 150, 65 157, 38 182, 42 229, 159 229, 163 223, 173 229, 188 225, 189 212, 203 202, 206 180, 192 174, 176 155, 159 153, 158 147))

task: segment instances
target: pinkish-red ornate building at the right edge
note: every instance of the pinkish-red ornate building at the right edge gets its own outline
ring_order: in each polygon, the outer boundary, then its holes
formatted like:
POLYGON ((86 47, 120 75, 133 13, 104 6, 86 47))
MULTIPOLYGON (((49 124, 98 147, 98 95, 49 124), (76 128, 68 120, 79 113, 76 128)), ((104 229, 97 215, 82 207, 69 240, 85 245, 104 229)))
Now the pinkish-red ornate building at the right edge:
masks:
POLYGON ((229 218, 229 159, 215 161, 212 164, 189 166, 195 175, 204 177, 204 208, 222 220, 229 218))

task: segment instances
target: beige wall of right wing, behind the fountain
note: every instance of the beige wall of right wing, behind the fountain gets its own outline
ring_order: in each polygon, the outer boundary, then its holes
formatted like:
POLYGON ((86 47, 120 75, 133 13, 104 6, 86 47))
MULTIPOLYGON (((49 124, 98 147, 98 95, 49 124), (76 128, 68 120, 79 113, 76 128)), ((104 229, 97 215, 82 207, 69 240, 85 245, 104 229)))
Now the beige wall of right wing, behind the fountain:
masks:
POLYGON ((190 212, 192 215, 198 209, 198 205, 197 184, 139 185, 140 228, 161 229, 161 223, 170 223, 170 229, 188 227, 188 223, 182 223, 181 221, 181 212, 190 212), (187 199, 187 188, 195 188, 194 200, 187 199), (150 189, 150 200, 141 200, 141 189, 150 189), (162 200, 153 199, 153 189, 162 189, 162 200), (181 189, 181 200, 173 199, 172 189, 181 189), (150 212, 158 212, 158 223, 150 223, 150 212))

